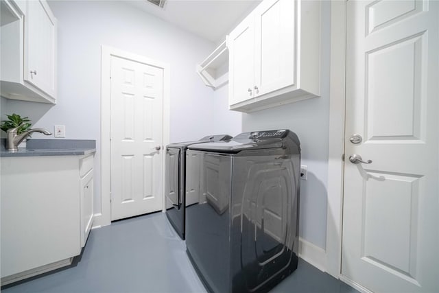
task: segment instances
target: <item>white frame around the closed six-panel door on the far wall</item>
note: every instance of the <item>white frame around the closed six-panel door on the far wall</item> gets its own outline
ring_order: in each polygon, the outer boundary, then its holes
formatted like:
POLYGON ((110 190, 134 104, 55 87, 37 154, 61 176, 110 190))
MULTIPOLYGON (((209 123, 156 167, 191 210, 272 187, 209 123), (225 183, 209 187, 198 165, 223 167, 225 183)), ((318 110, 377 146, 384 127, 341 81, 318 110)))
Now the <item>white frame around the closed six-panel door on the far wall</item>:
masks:
MULTIPOLYGON (((145 56, 132 54, 115 47, 101 46, 101 212, 95 213, 94 227, 106 226, 111 224, 111 148, 110 148, 110 129, 111 129, 111 82, 110 69, 111 57, 116 56, 134 62, 141 62, 147 65, 163 69, 163 145, 169 144, 169 100, 170 100, 170 66, 165 62, 152 60, 145 56)), ((162 185, 165 187, 165 156, 163 155, 162 185)), ((162 194, 162 211, 165 211, 165 188, 162 194)))

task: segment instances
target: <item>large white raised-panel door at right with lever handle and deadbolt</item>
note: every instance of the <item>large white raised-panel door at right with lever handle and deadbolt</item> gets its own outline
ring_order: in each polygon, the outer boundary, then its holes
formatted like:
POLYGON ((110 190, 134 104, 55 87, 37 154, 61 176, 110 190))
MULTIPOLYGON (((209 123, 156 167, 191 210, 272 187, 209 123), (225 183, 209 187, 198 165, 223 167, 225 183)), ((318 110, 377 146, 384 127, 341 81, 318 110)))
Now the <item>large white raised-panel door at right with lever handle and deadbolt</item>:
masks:
POLYGON ((439 1, 347 3, 342 275, 372 292, 439 290, 438 19, 439 1))

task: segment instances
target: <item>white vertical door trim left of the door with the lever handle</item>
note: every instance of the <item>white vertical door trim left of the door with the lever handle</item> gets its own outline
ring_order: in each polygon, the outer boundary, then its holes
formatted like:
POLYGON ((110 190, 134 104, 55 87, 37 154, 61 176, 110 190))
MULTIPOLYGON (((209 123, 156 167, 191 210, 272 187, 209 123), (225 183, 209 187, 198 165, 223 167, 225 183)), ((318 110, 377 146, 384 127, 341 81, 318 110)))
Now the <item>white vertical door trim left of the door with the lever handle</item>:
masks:
MULTIPOLYGON (((331 1, 327 243, 326 259, 324 259, 323 267, 326 272, 337 279, 343 279, 342 214, 346 104, 346 1, 331 1)), ((346 282, 346 280, 343 281, 346 282)), ((357 290, 361 290, 352 283, 350 285, 353 285, 357 290)))

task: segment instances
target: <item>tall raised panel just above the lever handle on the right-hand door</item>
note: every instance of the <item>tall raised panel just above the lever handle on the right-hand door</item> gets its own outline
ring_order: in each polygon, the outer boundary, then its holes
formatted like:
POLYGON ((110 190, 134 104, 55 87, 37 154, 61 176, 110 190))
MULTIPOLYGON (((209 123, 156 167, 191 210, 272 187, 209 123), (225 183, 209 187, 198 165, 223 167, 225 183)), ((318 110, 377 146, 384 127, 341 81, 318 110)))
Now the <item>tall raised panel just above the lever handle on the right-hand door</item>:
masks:
POLYGON ((425 40, 416 34, 366 53, 368 139, 420 139, 425 40))

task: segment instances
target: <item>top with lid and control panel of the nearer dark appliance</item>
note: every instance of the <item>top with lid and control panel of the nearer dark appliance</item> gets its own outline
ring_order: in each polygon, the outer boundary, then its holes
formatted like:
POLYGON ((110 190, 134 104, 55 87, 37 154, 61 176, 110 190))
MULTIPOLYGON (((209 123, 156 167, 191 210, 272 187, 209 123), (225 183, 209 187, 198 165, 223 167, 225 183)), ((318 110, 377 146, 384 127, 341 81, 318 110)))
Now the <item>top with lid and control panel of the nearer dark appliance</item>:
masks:
POLYGON ((196 143, 189 145, 189 150, 205 150, 208 152, 225 152, 235 154, 243 150, 258 150, 267 148, 298 147, 300 142, 291 130, 265 130, 243 132, 233 137, 231 141, 212 143, 196 143))

